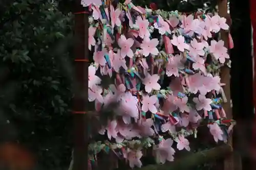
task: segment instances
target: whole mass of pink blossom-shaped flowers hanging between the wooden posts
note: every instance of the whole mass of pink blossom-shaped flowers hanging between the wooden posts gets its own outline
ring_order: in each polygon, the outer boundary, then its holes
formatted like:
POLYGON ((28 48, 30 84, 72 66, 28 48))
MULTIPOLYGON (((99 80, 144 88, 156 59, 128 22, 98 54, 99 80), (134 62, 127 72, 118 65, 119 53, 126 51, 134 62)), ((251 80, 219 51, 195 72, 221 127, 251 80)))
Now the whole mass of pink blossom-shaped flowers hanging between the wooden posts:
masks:
MULTIPOLYGON (((96 110, 120 103, 115 119, 100 134, 116 143, 159 138, 155 156, 161 163, 174 160, 174 141, 178 150, 190 150, 185 137, 195 133, 202 119, 209 122, 216 142, 225 140, 225 129, 219 126, 225 112, 220 105, 224 84, 218 66, 229 55, 224 42, 214 39, 221 29, 229 29, 225 18, 177 12, 164 16, 129 0, 115 8, 101 1, 82 0, 81 4, 92 11, 89 102, 95 103, 96 110), (115 81, 102 88, 101 76, 115 81), (169 137, 163 139, 162 134, 169 137)), ((141 167, 142 147, 122 148, 131 167, 141 167)))

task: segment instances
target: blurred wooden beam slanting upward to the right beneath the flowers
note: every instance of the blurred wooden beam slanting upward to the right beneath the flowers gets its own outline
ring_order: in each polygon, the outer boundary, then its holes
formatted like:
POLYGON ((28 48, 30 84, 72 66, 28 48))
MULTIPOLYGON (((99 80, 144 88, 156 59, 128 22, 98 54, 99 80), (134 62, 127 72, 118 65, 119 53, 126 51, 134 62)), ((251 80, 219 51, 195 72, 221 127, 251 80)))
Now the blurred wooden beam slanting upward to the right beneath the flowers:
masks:
POLYGON ((227 155, 232 152, 232 147, 228 144, 220 145, 216 148, 209 150, 189 154, 174 162, 166 162, 165 164, 158 165, 147 165, 142 168, 137 168, 136 170, 188 170, 200 164, 211 162, 227 155))

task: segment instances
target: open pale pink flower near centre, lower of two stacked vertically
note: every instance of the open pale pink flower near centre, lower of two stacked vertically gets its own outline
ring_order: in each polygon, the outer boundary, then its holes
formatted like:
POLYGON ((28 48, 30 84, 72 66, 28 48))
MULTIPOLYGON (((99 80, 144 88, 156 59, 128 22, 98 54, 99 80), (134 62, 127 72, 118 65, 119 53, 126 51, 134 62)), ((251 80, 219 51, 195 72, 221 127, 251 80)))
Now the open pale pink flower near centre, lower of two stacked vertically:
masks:
POLYGON ((145 96, 143 96, 143 101, 141 103, 142 103, 142 107, 141 107, 142 111, 147 112, 149 110, 152 113, 157 112, 157 108, 155 106, 155 104, 157 103, 157 96, 156 95, 152 95, 152 96, 145 95, 145 96))

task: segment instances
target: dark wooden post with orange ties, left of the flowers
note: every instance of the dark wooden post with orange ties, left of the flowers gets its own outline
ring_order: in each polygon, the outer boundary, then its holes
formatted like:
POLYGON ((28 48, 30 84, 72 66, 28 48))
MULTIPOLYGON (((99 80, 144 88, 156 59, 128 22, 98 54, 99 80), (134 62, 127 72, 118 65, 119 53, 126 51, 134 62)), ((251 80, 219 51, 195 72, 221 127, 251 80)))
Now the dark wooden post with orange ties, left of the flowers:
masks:
POLYGON ((73 170, 88 168, 88 14, 75 1, 75 80, 74 80, 74 152, 73 170))

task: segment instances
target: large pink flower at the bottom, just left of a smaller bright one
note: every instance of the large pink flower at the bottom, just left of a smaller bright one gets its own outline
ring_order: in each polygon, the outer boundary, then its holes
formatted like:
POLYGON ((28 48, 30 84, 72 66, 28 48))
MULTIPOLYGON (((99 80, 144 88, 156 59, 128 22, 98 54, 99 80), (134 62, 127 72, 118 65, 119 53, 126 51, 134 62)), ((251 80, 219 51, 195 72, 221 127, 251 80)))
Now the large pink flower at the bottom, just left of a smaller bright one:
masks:
POLYGON ((165 163, 165 161, 174 161, 175 150, 172 148, 173 140, 168 138, 158 144, 156 148, 156 158, 158 163, 165 163))

